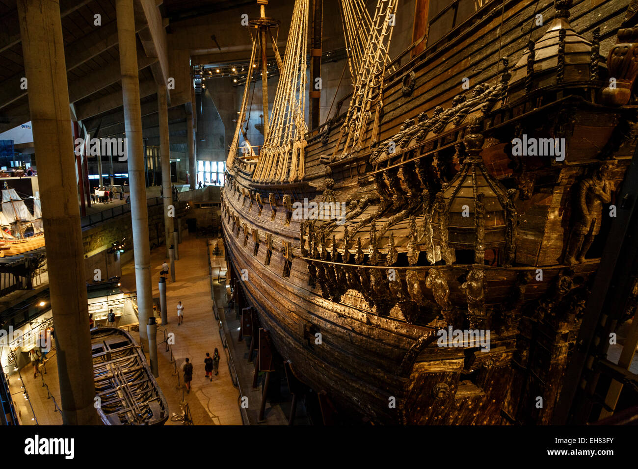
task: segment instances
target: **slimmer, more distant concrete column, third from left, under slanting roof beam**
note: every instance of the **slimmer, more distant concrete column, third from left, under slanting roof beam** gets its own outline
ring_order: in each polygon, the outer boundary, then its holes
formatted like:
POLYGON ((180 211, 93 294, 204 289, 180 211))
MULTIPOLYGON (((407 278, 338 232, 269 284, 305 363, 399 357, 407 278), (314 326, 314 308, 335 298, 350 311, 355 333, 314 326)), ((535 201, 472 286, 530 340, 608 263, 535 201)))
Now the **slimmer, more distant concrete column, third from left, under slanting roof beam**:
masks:
POLYGON ((158 115, 159 115, 159 156, 161 159, 161 187, 164 201, 164 236, 166 255, 169 256, 168 246, 173 244, 173 227, 175 207, 169 215, 170 205, 173 204, 173 191, 170 182, 170 143, 168 139, 168 107, 166 103, 166 86, 158 86, 158 115))

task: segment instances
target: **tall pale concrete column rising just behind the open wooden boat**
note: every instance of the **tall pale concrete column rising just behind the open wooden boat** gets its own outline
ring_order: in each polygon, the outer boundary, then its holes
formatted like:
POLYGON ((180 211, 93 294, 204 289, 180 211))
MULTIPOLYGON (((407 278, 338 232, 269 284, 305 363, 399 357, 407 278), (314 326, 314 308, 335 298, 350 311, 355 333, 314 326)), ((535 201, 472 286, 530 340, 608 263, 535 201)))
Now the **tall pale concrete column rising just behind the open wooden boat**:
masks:
POLYGON ((137 68, 137 42, 133 0, 115 0, 117 40, 122 74, 124 102, 124 130, 127 138, 128 177, 133 225, 133 255, 135 256, 135 284, 137 288, 140 345, 149 350, 146 325, 153 315, 151 285, 151 248, 144 174, 144 142, 140 114, 140 87, 137 68))

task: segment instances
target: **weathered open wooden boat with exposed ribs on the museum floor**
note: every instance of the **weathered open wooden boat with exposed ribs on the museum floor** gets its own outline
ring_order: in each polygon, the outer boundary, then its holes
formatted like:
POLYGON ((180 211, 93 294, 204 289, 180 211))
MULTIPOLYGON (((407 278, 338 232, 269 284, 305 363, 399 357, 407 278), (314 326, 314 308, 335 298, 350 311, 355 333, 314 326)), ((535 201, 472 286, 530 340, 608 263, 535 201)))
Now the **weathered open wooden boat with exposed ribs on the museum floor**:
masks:
POLYGON ((105 425, 161 425, 168 404, 144 353, 117 327, 91 329, 98 413, 105 425))

